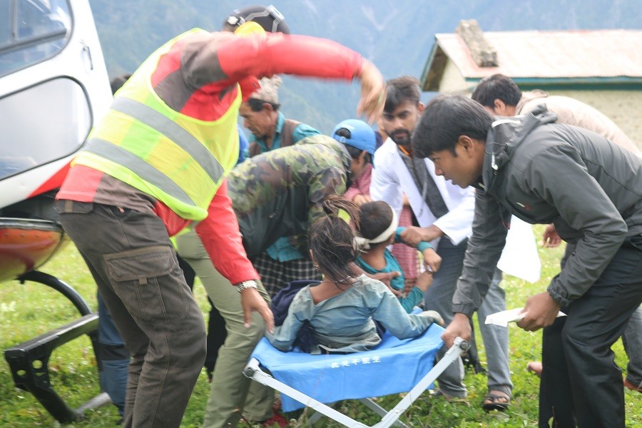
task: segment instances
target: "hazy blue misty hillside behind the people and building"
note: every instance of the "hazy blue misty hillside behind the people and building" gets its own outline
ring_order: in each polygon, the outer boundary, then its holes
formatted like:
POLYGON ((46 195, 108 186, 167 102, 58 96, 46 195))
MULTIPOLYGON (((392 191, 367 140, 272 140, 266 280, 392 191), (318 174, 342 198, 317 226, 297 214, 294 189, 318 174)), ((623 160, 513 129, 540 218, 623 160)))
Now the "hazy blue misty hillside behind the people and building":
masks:
MULTIPOLYGON (((110 77, 131 72, 154 49, 183 31, 220 29, 230 11, 254 4, 231 0, 90 0, 110 77)), ((270 4, 270 3, 265 3, 270 4)), ((435 33, 462 19, 484 31, 640 29, 639 0, 275 0, 292 34, 325 37, 374 62, 384 78, 419 77, 435 33)), ((354 117, 359 86, 286 77, 285 116, 328 133, 354 117)), ((426 94, 427 98, 431 94, 426 94)))

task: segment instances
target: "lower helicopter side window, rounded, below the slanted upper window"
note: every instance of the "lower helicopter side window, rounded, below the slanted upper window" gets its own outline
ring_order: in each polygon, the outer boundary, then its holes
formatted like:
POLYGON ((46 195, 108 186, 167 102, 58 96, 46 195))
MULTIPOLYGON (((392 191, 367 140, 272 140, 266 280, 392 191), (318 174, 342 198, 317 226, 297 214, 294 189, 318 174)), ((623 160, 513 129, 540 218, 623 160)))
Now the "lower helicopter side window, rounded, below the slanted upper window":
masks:
POLYGON ((0 98, 0 180, 78 151, 91 128, 86 93, 56 78, 0 98))

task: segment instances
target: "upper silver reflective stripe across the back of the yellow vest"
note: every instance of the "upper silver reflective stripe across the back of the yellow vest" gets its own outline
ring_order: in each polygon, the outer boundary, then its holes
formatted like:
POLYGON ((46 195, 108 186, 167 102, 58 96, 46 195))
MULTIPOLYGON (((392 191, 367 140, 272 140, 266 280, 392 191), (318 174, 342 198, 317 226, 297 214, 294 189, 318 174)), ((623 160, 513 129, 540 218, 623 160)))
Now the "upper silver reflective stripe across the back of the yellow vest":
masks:
POLYGON ((217 183, 223 177, 223 167, 216 158, 188 131, 172 121, 167 116, 158 113, 153 108, 129 98, 118 97, 113 101, 111 108, 145 123, 156 131, 162 133, 184 151, 190 153, 200 166, 203 167, 210 179, 217 183))

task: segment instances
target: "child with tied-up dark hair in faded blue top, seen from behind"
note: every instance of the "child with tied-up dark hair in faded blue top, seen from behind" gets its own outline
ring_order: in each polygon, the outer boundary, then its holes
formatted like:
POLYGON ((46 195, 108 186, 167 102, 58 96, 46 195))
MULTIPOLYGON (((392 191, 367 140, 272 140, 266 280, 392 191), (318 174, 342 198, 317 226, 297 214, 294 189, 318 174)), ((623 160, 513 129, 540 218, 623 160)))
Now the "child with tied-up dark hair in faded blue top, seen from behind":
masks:
POLYGON ((408 315, 382 282, 355 275, 352 265, 359 251, 355 233, 338 213, 345 211, 358 225, 358 208, 350 201, 331 198, 324 210, 328 215, 310 229, 310 256, 325 279, 297 292, 282 325, 267 334, 273 346, 291 350, 306 321, 315 342, 311 354, 359 352, 379 345, 374 320, 399 339, 421 335, 432 322, 443 323, 434 311, 408 315))

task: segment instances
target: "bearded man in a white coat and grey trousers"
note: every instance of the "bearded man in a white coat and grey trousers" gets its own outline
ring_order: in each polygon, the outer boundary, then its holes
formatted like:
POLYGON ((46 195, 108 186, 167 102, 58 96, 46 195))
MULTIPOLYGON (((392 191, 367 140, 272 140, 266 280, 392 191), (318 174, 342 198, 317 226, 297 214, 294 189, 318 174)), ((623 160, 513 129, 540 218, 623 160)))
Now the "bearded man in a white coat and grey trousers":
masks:
MULTIPOLYGON (((384 200, 397 214, 402 209, 402 192, 407 195, 418 227, 407 228, 402 239, 413 245, 419 241, 432 241, 442 257, 442 266, 425 293, 424 310, 436 310, 449 322, 452 319, 452 296, 462 272, 467 237, 471 231, 474 189, 458 188, 435 175, 432 162, 417 157, 412 150, 410 136, 424 110, 419 101, 420 94, 419 81, 412 76, 387 81, 381 122, 389 139, 375 153, 370 193, 372 200, 384 200)), ((480 311, 479 327, 489 367, 488 394, 481 403, 486 410, 508 408, 513 387, 508 365, 508 332, 483 322, 485 315, 506 309, 500 281, 501 271, 497 270, 496 275, 489 279, 491 292, 480 311)), ((466 397, 463 375, 461 362, 448 367, 437 379, 439 391, 449 397, 466 397)))

